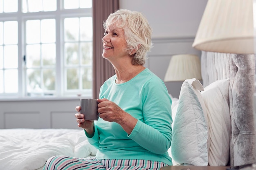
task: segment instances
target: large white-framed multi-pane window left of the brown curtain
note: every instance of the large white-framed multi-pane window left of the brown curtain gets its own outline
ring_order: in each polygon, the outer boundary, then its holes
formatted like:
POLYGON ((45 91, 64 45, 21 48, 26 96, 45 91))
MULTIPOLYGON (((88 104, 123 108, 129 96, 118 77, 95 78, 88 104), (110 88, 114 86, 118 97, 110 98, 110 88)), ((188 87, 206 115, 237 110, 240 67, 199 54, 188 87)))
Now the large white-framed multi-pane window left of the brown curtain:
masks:
POLYGON ((92 95, 92 0, 0 0, 0 96, 92 95))

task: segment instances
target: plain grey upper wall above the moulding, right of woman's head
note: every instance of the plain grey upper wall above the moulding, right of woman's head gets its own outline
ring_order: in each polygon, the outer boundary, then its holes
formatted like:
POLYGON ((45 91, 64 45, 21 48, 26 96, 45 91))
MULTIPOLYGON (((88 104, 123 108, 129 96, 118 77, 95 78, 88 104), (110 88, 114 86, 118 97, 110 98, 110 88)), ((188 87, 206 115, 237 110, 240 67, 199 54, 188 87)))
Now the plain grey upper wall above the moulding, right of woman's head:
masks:
POLYGON ((207 0, 119 0, 121 9, 144 13, 153 38, 195 37, 207 0))

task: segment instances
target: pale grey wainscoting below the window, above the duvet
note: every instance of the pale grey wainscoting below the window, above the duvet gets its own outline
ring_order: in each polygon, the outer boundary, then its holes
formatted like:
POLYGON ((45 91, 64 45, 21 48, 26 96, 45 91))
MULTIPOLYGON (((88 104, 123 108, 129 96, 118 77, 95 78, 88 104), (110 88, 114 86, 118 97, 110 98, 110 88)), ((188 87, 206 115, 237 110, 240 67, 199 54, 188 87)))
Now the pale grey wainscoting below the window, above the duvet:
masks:
POLYGON ((76 129, 77 99, 32 99, 0 102, 0 128, 76 129))

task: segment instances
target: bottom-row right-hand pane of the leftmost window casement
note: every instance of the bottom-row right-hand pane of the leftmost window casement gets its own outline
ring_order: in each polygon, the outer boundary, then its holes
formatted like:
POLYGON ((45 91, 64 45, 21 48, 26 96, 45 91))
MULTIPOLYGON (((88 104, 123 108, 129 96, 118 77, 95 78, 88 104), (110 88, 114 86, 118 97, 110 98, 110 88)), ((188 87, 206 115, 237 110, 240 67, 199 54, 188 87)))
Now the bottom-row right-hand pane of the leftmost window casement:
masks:
POLYGON ((4 91, 5 93, 18 93, 18 70, 4 71, 4 91))

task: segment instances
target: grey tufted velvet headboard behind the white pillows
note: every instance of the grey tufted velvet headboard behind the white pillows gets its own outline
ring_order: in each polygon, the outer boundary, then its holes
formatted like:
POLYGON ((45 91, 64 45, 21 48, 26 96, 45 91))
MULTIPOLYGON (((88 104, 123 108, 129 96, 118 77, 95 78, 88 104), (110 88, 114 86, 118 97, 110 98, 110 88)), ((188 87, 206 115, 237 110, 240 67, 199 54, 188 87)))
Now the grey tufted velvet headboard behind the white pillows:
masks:
POLYGON ((202 51, 201 70, 204 87, 216 80, 230 78, 230 165, 255 163, 254 55, 202 51))

